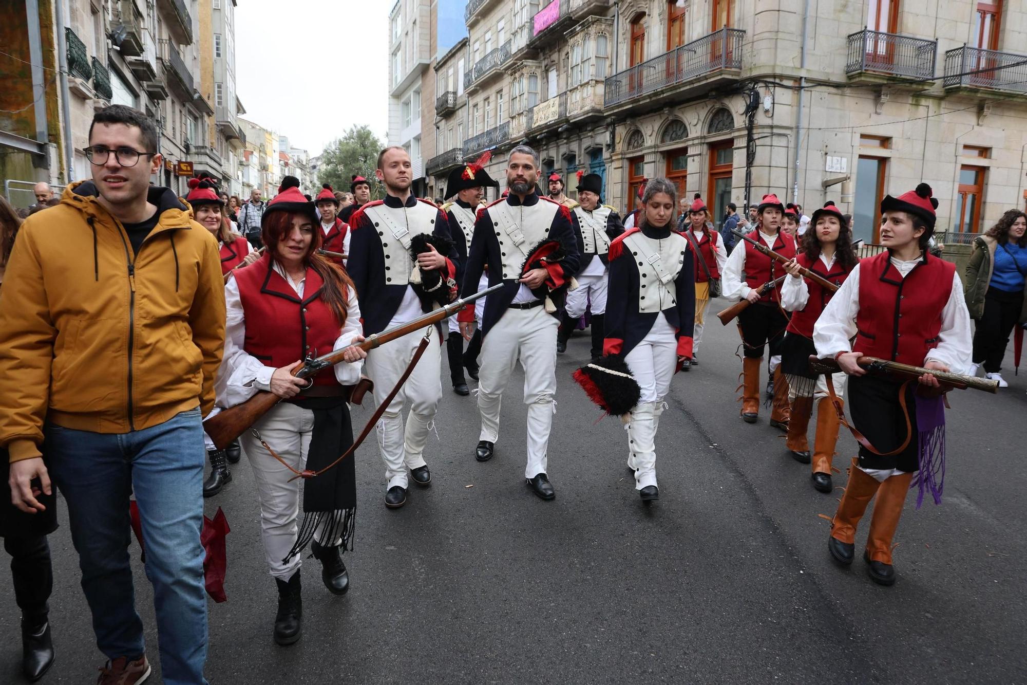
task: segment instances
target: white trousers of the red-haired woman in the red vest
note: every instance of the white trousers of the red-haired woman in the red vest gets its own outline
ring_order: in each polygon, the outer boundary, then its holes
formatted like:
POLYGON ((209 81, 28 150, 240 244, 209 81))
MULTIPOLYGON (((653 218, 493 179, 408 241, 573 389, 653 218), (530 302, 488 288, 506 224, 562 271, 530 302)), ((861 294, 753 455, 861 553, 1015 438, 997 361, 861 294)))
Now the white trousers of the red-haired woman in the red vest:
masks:
MULTIPOLYGON (((279 402, 254 424, 264 441, 297 471, 307 464, 307 450, 314 428, 314 412, 279 402)), ((282 563, 286 554, 296 544, 298 532, 297 517, 300 513, 300 479, 289 482, 295 473, 268 454, 260 441, 246 431, 239 436, 239 444, 245 453, 257 481, 257 498, 260 500, 261 539, 264 554, 271 575, 279 580, 289 580, 300 568, 301 556, 296 554, 288 564, 282 563)), ((341 540, 325 540, 324 525, 314 533, 314 539, 329 546, 338 545, 341 540)))

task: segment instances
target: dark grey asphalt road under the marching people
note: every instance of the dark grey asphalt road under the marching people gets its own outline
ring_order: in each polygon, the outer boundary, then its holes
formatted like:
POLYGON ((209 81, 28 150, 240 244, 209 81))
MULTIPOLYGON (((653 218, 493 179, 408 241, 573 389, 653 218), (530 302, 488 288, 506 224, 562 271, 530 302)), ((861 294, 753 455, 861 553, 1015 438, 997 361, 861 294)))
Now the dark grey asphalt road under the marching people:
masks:
MULTIPOLYGON (((232 527, 228 602, 210 605, 211 682, 1027 682, 1027 373, 1010 368, 1011 388, 997 397, 952 394, 945 502, 918 511, 908 502, 899 582, 879 587, 862 562, 840 570, 829 560, 829 524, 817 514, 833 513, 840 491, 812 490, 767 410, 757 425, 738 418, 738 337, 713 318, 720 304, 710 308, 701 365, 679 374, 668 398, 659 502, 640 502, 619 422, 597 423, 599 409, 570 378, 586 334, 559 360, 553 502, 524 484, 520 383, 504 402, 496 457, 479 464, 474 398, 444 381, 440 440, 426 453, 433 483, 388 511, 373 440, 359 450, 351 589, 329 594, 319 565, 305 560, 304 633, 293 647, 271 640, 274 582, 243 458, 207 501, 207 513, 223 507, 232 527)), ((362 426, 368 411, 355 413, 362 426)), ((842 436, 836 467, 854 445, 842 436)), ((866 525, 858 542, 865 535, 866 525)), ((58 660, 43 682, 91 682, 104 657, 67 526, 50 544, 58 660)), ((137 604, 157 674, 152 593, 137 552, 137 604)), ((0 586, 10 587, 4 565, 0 586)), ((21 682, 20 653, 5 591, 0 682, 21 682)))

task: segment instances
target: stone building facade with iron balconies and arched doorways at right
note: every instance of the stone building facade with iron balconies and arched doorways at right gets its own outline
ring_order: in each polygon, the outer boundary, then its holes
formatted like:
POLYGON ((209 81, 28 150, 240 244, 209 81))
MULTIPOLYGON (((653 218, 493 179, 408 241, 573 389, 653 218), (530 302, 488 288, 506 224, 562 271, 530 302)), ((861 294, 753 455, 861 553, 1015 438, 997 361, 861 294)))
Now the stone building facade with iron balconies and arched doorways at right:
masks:
POLYGON ((435 122, 462 121, 460 155, 491 149, 496 178, 526 142, 571 195, 581 170, 624 210, 667 176, 718 223, 764 192, 806 214, 833 200, 867 242, 882 194, 921 180, 950 241, 1025 205, 1027 14, 1012 0, 470 0, 465 22, 466 46, 435 64, 435 122), (463 93, 442 89, 460 59, 463 93))

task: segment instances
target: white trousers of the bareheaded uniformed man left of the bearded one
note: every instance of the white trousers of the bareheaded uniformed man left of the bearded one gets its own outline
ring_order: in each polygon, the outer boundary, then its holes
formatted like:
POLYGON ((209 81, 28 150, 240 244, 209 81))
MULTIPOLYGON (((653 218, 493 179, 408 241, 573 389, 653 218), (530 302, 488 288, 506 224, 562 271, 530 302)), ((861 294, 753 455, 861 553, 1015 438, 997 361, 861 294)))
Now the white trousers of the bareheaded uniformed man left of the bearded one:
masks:
MULTIPOLYGON (((364 372, 375 384, 375 404, 381 405, 400 381, 414 357, 414 351, 424 337, 424 330, 422 328, 408 333, 368 353, 368 358, 364 361, 364 372)), ((393 485, 406 488, 407 469, 424 466, 424 446, 428 441, 428 431, 434 421, 439 401, 443 398, 439 331, 434 326, 431 326, 429 340, 421 361, 414 367, 413 373, 392 398, 375 427, 378 431, 378 448, 385 462, 385 478, 388 480, 386 490, 393 485), (410 409, 406 429, 402 416, 404 404, 408 404, 410 409)))

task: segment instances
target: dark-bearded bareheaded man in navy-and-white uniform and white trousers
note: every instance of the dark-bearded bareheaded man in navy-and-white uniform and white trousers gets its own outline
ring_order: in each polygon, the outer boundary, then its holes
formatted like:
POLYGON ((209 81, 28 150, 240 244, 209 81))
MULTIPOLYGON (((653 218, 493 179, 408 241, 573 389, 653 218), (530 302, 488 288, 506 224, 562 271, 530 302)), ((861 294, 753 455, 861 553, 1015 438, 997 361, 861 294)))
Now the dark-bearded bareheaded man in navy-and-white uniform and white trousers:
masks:
MULTIPOLYGON (((563 292, 577 272, 578 252, 570 210, 535 192, 538 153, 527 145, 510 150, 509 194, 478 213, 463 274, 464 296, 478 292, 486 264, 489 285, 503 289, 487 297, 482 317, 482 369, 478 409, 482 432, 474 457, 492 459, 499 437, 499 405, 518 359, 524 368, 528 405, 525 479, 538 497, 556 497, 546 474, 546 448, 557 392, 555 318, 563 292)), ((464 339, 474 332, 474 314, 457 317, 464 339)))

